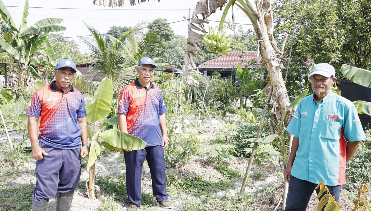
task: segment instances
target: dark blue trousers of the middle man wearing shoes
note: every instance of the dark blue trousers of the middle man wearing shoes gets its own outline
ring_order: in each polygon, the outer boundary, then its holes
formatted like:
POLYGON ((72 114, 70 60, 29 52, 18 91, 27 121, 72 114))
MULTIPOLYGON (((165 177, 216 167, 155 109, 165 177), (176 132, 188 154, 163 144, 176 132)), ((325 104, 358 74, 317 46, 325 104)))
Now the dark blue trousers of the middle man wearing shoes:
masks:
POLYGON ((151 171, 152 192, 158 202, 167 200, 164 149, 162 145, 148 146, 142 150, 124 152, 126 165, 126 190, 129 201, 140 207, 142 201, 142 169, 144 159, 151 171))

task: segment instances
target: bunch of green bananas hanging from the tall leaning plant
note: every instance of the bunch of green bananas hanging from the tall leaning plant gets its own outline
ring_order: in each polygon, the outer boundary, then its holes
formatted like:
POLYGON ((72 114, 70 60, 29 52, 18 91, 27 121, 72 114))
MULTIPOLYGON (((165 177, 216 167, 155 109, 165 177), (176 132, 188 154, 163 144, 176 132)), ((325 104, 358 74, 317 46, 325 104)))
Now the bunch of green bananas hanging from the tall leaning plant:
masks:
POLYGON ((231 53, 230 42, 232 38, 227 38, 227 32, 222 33, 221 31, 214 31, 209 27, 209 33, 204 33, 202 37, 204 43, 210 46, 206 46, 206 50, 213 53, 221 53, 228 55, 231 53))

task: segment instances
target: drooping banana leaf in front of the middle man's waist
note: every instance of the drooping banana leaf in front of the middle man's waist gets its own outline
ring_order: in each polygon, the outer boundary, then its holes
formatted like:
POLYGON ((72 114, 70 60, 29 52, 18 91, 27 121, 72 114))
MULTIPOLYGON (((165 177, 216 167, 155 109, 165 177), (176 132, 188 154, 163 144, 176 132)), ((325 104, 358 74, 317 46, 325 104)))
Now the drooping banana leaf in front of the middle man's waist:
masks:
POLYGON ((105 130, 99 136, 109 145, 120 149, 139 150, 147 145, 142 139, 120 130, 105 130))

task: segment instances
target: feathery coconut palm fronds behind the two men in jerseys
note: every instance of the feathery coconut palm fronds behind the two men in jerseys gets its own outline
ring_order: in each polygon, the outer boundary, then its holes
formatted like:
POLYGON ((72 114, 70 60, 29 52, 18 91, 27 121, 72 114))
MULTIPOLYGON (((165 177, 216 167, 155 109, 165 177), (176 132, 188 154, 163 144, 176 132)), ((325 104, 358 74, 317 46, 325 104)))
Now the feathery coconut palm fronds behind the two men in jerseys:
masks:
MULTIPOLYGON (((156 56, 163 48, 160 36, 144 33, 140 22, 123 33, 119 39, 107 35, 109 41, 94 27, 87 26, 93 38, 82 38, 92 56, 91 69, 99 79, 108 77, 114 84, 114 95, 137 77, 136 65, 142 57, 156 56)), ((158 63, 157 70, 167 64, 158 63)))

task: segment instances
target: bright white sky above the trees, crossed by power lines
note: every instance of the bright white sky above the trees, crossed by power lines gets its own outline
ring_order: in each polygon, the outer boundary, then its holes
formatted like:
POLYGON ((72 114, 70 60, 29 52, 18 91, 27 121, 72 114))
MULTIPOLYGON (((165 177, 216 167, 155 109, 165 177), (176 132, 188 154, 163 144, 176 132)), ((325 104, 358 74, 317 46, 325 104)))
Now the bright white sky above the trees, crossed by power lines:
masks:
MULTIPOLYGON (((14 22, 17 26, 22 20, 24 0, 2 0, 7 6, 14 22), (15 7, 10 7, 15 6, 15 7)), ((150 0, 148 2, 130 6, 128 0, 124 0, 123 7, 104 7, 93 5, 92 0, 29 0, 29 7, 52 7, 52 8, 29 8, 27 17, 27 25, 30 26, 38 20, 47 17, 63 18, 64 22, 61 26, 65 26, 63 31, 64 37, 89 35, 90 32, 86 28, 84 22, 93 26, 101 33, 106 33, 111 26, 134 26, 138 22, 152 22, 156 18, 166 18, 167 22, 176 22, 184 20, 183 16, 188 18, 189 8, 190 14, 193 13, 193 8, 198 0, 150 0), (65 9, 55 9, 65 8, 65 9)), ((217 22, 210 22, 209 26, 216 27, 219 25, 219 20, 222 11, 217 10, 208 19, 217 22)), ((240 9, 234 9, 236 23, 250 24, 240 9)), ((227 19, 232 20, 232 13, 227 14, 227 19)), ((171 28, 176 35, 187 37, 188 22, 181 21, 171 23, 171 28)), ((244 29, 251 28, 249 25, 242 25, 244 29)), ((232 30, 227 30, 227 33, 232 34, 232 30)), ((75 39, 79 44, 81 52, 85 53, 85 46, 80 38, 75 39)))

